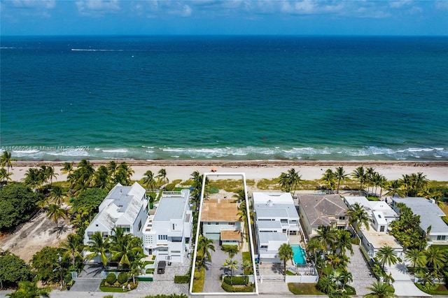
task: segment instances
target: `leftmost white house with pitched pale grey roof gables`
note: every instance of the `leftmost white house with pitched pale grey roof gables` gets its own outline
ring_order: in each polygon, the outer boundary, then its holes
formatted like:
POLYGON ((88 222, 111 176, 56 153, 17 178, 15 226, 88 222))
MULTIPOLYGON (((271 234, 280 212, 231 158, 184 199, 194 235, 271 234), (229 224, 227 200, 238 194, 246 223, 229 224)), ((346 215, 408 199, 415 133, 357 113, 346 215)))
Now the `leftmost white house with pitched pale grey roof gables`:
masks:
POLYGON ((123 186, 118 183, 98 207, 99 213, 85 229, 84 244, 87 245, 94 232, 103 237, 113 233, 115 227, 122 227, 125 233, 141 238, 142 228, 148 217, 146 190, 139 183, 123 186))

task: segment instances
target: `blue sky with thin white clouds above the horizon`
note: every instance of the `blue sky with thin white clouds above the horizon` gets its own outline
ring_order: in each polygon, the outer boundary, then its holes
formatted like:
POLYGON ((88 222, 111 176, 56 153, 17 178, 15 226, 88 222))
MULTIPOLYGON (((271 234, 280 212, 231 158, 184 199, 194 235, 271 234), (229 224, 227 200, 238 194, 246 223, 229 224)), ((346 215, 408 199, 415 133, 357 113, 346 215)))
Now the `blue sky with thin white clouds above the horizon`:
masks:
POLYGON ((0 0, 1 36, 448 36, 448 0, 0 0))

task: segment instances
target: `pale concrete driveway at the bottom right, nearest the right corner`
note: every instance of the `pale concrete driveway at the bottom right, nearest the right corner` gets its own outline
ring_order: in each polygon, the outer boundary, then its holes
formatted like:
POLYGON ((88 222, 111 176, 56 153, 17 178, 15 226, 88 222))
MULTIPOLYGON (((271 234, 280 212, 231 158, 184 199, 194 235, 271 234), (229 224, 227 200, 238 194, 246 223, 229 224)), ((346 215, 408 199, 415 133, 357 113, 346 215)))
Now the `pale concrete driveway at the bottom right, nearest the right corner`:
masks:
POLYGON ((385 269, 386 273, 391 273, 392 278, 395 280, 392 285, 395 288, 395 295, 398 295, 398 297, 433 297, 422 292, 414 285, 404 262, 390 267, 386 266, 385 269))

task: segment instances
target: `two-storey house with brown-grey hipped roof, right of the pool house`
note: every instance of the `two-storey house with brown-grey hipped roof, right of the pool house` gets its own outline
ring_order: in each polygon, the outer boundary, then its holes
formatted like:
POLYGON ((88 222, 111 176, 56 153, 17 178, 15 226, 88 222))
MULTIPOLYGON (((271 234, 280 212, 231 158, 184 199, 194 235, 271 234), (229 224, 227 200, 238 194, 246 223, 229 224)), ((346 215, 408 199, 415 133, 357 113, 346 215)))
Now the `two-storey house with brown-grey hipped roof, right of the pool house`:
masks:
POLYGON ((317 236, 320 226, 346 229, 348 207, 339 194, 299 194, 299 215, 307 238, 317 236))

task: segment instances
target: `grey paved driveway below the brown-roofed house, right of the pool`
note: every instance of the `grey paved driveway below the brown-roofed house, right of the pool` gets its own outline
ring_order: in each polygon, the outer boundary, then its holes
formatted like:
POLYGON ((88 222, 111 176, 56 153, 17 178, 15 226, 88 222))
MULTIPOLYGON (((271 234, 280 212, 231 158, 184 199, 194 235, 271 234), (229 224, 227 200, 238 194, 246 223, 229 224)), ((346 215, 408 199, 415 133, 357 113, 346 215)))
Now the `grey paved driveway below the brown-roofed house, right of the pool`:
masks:
POLYGON ((374 278, 374 276, 370 274, 370 269, 367 267, 367 263, 360 251, 360 247, 356 245, 353 245, 352 247, 353 255, 350 255, 350 252, 346 252, 346 255, 350 258, 347 269, 353 276, 353 283, 349 283, 349 285, 355 288, 356 295, 363 296, 370 293, 366 288, 371 287, 372 283, 377 281, 377 278, 374 278))

